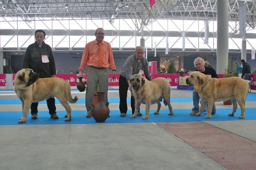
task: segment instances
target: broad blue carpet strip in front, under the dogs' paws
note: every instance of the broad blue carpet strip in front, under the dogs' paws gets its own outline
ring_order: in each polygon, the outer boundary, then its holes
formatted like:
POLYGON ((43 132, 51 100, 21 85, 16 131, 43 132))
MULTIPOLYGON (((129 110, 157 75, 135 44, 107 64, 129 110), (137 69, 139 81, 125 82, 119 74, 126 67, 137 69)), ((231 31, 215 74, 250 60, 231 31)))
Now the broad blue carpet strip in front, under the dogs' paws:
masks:
MULTIPOLYGON (((246 108, 245 119, 239 119, 241 110, 237 109, 235 116, 227 116, 232 112, 231 108, 217 109, 217 113, 212 115, 212 119, 205 119, 206 112, 201 116, 189 116, 191 109, 173 109, 174 115, 169 116, 169 110, 161 110, 160 114, 154 115, 151 110, 148 119, 143 120, 142 116, 137 116, 134 119, 129 118, 131 111, 128 111, 127 116, 121 117, 119 111, 110 111, 109 117, 105 123, 142 123, 142 122, 192 122, 192 121, 223 121, 223 120, 256 120, 256 108, 246 108)), ((72 111, 72 120, 64 121, 66 111, 57 111, 59 119, 50 119, 48 111, 39 111, 38 119, 31 119, 31 114, 26 120, 26 123, 19 124, 18 121, 22 116, 21 111, 0 112, 0 125, 40 125, 40 124, 79 124, 79 123, 96 123, 93 118, 86 118, 87 111, 72 111)), ((141 110, 143 116, 145 110, 141 110)))

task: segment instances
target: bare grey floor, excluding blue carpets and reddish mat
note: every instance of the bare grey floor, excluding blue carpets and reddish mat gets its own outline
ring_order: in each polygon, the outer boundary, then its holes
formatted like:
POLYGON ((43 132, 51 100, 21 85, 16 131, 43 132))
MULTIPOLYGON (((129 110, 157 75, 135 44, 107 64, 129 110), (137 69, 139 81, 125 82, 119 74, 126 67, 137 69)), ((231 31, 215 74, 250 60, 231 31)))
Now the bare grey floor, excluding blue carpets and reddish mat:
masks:
MULTIPOLYGON (((85 93, 72 92, 72 95, 84 98, 85 93)), ((192 92, 172 91, 171 95, 191 97, 192 92)), ((118 98, 118 91, 109 91, 108 97, 118 98)), ((17 96, 14 92, 0 91, 0 99, 17 99, 17 96)), ((246 102, 247 107, 255 104, 246 102)), ((84 104, 70 106, 72 110, 85 109, 84 104)), ((64 110, 62 105, 56 107, 64 110)), ((119 110, 115 103, 109 107, 119 110)), ((192 103, 172 103, 172 107, 192 108, 192 103)), ((216 107, 232 108, 221 103, 216 103, 216 107)), ((41 104, 38 109, 47 110, 47 106, 41 104)), ((21 105, 0 105, 0 110, 11 114, 21 111, 21 105)), ((254 120, 206 123, 256 141, 254 120)), ((0 125, 0 160, 0 170, 225 169, 154 123, 0 125)))

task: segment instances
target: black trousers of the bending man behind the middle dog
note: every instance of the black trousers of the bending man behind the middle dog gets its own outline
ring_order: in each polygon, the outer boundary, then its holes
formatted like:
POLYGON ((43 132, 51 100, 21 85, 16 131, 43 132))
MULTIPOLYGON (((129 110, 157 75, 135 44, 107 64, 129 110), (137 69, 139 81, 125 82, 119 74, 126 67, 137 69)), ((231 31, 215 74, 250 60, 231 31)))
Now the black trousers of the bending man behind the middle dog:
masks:
MULTIPOLYGON (((120 113, 127 113, 127 91, 128 91, 129 85, 128 82, 126 80, 125 77, 122 77, 120 75, 119 77, 119 99, 120 99, 120 103, 119 103, 119 110, 120 113)), ((134 96, 131 95, 131 111, 132 114, 134 114, 135 111, 135 100, 134 100, 134 96)), ((140 109, 139 109, 140 112, 140 109)))

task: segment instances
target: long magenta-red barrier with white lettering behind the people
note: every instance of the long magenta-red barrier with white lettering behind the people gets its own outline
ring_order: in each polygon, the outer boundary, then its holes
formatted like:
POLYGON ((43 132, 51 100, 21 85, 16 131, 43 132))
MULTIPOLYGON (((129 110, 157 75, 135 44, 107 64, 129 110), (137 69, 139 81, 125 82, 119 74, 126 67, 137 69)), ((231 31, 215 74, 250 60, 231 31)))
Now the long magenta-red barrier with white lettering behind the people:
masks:
MULTIPOLYGON (((184 76, 188 76, 189 74, 184 74, 184 76)), ((120 74, 116 74, 116 78, 112 79, 112 74, 108 75, 108 85, 109 86, 118 86, 119 85, 119 76, 120 74)), ((144 76, 144 75, 143 75, 144 76)), ((178 78, 180 74, 151 74, 152 79, 157 77, 166 78, 172 86, 177 86, 178 78)), ((71 86, 76 86, 76 82, 79 82, 77 79, 77 74, 57 74, 57 77, 67 80, 71 86)), ((218 74, 219 78, 223 78, 224 74, 218 74)), ((256 74, 252 74, 253 81, 251 85, 252 90, 256 90, 256 74)), ((13 74, 12 79, 15 78, 15 74, 13 74)), ((87 76, 84 74, 83 82, 87 81, 87 76)), ((6 74, 0 74, 0 86, 6 86, 6 74)))

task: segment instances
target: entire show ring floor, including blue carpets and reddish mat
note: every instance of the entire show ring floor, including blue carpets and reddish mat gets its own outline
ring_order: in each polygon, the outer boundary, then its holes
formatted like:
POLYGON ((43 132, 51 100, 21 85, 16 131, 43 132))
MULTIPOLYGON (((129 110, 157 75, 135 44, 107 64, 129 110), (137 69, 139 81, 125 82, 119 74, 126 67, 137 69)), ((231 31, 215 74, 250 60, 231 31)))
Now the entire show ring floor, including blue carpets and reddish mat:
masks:
MULTIPOLYGON (((38 105, 38 119, 26 123, 13 90, 0 90, 0 170, 253 170, 256 169, 256 91, 247 96, 245 119, 232 105, 216 102, 212 119, 189 116, 192 91, 171 92, 174 115, 162 104, 151 105, 147 120, 128 113, 120 117, 118 87, 109 87, 111 117, 105 123, 86 118, 85 92, 72 90, 71 122, 56 100, 59 119, 50 119, 47 105, 38 105)), ((128 98, 131 96, 128 91, 128 98)), ((129 99, 128 99, 129 102, 129 99)), ((145 115, 145 105, 141 111, 145 115)))

